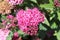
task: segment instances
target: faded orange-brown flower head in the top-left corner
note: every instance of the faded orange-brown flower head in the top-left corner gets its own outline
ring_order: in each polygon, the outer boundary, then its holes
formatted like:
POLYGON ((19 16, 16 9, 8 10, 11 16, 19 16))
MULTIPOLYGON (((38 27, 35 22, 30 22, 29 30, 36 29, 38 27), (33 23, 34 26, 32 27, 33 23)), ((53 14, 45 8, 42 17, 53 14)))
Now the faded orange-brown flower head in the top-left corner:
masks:
POLYGON ((13 6, 7 1, 0 2, 0 14, 9 14, 11 13, 11 9, 13 9, 13 6))

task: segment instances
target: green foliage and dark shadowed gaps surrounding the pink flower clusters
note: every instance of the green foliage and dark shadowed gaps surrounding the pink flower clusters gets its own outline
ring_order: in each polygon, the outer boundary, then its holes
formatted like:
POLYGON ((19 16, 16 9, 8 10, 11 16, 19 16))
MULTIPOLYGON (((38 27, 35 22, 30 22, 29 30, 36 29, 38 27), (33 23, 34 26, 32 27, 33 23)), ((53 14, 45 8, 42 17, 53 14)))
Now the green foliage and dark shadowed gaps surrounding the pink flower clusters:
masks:
MULTIPOLYGON (((60 40, 60 8, 54 6, 54 0, 24 0, 23 4, 16 6, 18 9, 19 7, 21 9, 38 7, 44 13, 45 21, 38 25, 39 31, 37 36, 42 40, 60 40)), ((16 16, 15 13, 13 14, 16 16)), ((5 19, 5 16, 0 15, 0 22, 1 17, 5 19)), ((28 38, 28 35, 24 35, 21 30, 18 30, 18 33, 23 39, 28 38)), ((12 36, 13 32, 10 32, 7 40, 12 40, 12 36)))

